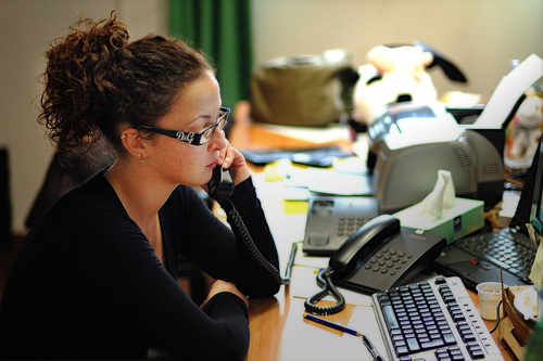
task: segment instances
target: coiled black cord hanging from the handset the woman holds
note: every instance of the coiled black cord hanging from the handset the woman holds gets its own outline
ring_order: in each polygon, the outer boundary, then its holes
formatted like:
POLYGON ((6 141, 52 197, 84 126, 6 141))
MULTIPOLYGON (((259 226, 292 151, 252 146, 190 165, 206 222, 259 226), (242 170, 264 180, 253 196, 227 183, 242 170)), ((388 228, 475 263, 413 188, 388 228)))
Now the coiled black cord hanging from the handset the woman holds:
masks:
POLYGON ((232 220, 233 222, 232 232, 239 240, 243 242, 244 246, 249 249, 253 258, 272 275, 272 278, 274 278, 274 280, 278 284, 288 284, 288 281, 281 279, 281 276, 279 275, 279 270, 275 268, 275 266, 272 265, 256 247, 253 238, 251 237, 251 234, 249 234, 249 231, 245 227, 245 223, 243 222, 243 219, 241 218, 240 214, 233 206, 233 203, 229 198, 220 198, 220 197, 216 197, 215 201, 218 202, 220 207, 232 220))

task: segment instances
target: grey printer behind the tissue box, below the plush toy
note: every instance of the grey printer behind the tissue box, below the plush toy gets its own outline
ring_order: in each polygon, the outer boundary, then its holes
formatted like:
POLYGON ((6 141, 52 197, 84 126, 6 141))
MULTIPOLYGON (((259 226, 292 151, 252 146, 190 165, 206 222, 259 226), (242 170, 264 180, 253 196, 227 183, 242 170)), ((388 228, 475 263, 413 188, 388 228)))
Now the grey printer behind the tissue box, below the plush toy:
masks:
POLYGON ((458 196, 484 201, 485 208, 502 199, 502 154, 439 103, 392 104, 368 127, 368 136, 367 166, 381 212, 420 202, 439 169, 451 171, 458 196))

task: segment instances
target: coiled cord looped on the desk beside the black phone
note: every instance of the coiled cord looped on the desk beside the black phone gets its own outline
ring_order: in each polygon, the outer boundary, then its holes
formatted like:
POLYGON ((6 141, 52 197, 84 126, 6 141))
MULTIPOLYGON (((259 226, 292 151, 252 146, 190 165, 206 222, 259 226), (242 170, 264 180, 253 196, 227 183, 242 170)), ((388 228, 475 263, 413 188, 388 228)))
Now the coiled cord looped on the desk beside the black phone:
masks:
POLYGON ((345 307, 345 299, 340 294, 338 287, 333 284, 331 275, 333 270, 331 268, 320 269, 317 274, 317 284, 323 287, 323 291, 316 293, 310 298, 305 299, 305 310, 314 314, 333 314, 340 312, 345 307), (332 306, 317 306, 316 304, 326 296, 332 296, 336 299, 336 305, 332 306))

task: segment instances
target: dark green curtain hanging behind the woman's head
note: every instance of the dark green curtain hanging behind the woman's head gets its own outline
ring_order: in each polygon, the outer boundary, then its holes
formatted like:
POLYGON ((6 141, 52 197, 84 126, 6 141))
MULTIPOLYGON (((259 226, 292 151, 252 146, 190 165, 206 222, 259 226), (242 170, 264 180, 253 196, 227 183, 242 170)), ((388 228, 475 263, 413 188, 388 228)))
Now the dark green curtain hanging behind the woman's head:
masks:
POLYGON ((251 0, 169 0, 169 35, 201 50, 217 70, 223 104, 250 99, 251 0))

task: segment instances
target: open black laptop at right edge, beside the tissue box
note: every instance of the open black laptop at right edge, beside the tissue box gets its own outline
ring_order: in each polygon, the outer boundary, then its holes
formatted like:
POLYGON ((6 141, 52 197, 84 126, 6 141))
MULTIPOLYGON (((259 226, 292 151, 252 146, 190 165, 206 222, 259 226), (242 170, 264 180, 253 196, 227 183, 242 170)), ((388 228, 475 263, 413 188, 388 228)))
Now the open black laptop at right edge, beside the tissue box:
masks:
POLYGON ((531 284, 528 275, 536 248, 529 240, 525 224, 531 222, 535 231, 542 234, 541 142, 540 140, 509 227, 496 232, 470 235, 450 245, 434 261, 439 272, 459 276, 471 289, 481 282, 498 282, 500 269, 503 269, 504 283, 507 285, 531 284))

